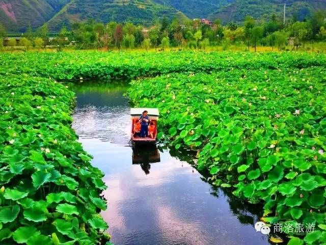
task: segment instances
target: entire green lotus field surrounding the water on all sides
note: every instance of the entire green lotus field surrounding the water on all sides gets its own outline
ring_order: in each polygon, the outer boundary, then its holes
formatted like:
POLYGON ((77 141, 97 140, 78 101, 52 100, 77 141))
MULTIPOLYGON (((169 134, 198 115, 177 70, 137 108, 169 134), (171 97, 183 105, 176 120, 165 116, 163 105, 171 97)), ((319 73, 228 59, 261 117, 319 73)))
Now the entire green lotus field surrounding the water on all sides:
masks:
POLYGON ((315 225, 288 244, 326 243, 325 54, 26 52, 0 64, 1 244, 106 243, 103 174, 56 81, 110 78, 139 79, 128 95, 159 108, 158 137, 197 151, 216 186, 262 202, 264 222, 315 225))

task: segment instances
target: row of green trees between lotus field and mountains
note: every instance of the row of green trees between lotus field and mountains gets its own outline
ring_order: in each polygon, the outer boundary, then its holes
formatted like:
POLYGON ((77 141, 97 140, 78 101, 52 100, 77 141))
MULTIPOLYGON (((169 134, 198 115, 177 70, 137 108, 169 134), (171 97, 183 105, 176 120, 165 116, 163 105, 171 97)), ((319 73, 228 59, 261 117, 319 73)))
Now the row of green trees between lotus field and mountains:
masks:
MULTIPOLYGON (((229 44, 245 44, 250 50, 251 46, 256 51, 257 45, 276 46, 281 50, 290 42, 293 49, 305 47, 310 40, 326 41, 326 13, 316 12, 311 18, 304 21, 288 21, 283 23, 276 15, 269 21, 255 20, 247 16, 241 25, 230 22, 226 26, 216 19, 212 24, 202 23, 201 20, 186 21, 181 24, 178 19, 170 21, 161 18, 154 21, 152 27, 134 25, 131 22, 107 24, 89 20, 72 24, 71 30, 63 27, 58 36, 49 40, 46 24, 37 30, 36 36, 32 28, 28 28, 20 44, 26 46, 56 45, 59 49, 68 43, 73 43, 77 48, 106 48, 113 47, 132 49, 143 47, 146 50, 154 47, 164 50, 167 47, 205 48, 209 45, 222 44, 225 48, 229 44), (22 43, 23 42, 23 43, 22 43)), ((2 33, 0 27, 0 37, 2 33)), ((4 33, 4 32, 3 32, 4 33)), ((1 45, 1 44, 0 44, 1 45)), ((9 46, 14 41, 8 41, 9 46)))

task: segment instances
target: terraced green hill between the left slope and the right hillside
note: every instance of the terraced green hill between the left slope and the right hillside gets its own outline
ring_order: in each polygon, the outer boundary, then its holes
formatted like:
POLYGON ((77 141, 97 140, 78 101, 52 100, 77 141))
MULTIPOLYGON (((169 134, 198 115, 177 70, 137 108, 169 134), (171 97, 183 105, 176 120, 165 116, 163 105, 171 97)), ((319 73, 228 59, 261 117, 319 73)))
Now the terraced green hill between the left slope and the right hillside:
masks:
POLYGON ((180 11, 169 5, 160 5, 153 1, 140 0, 73 0, 58 14, 49 20, 49 27, 58 30, 63 23, 93 18, 95 21, 108 22, 132 21, 133 23, 151 24, 153 19, 162 16, 186 18, 180 11))

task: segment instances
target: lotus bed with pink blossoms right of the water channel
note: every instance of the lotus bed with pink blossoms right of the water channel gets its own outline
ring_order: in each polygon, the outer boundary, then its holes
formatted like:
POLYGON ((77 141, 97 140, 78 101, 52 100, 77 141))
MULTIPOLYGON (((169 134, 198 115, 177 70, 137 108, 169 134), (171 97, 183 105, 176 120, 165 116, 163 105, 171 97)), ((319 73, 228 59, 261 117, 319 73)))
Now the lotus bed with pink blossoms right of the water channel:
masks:
POLYGON ((197 151, 216 186, 264 204, 266 223, 314 224, 288 232, 290 245, 326 242, 326 72, 233 69, 135 80, 135 106, 160 110, 159 133, 197 151))

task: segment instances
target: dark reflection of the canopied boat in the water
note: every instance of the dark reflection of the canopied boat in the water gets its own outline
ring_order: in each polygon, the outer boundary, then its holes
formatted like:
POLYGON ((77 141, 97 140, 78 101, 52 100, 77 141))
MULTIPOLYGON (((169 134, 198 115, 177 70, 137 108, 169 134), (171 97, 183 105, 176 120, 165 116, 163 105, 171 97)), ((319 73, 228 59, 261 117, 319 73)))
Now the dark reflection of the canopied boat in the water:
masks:
POLYGON ((143 148, 132 148, 132 164, 140 164, 146 175, 149 174, 151 163, 160 162, 156 145, 143 148))

